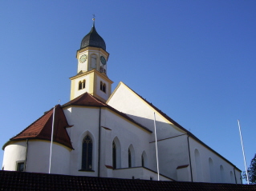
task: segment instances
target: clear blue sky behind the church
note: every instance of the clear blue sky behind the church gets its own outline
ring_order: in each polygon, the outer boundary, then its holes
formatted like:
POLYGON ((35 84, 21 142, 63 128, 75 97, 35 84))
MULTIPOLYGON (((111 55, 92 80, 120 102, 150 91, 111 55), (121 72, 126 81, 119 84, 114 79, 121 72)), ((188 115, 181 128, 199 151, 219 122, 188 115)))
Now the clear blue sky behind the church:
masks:
MULTIPOLYGON (((122 81, 244 170, 256 153, 255 1, 1 1, 0 145, 69 101, 95 27, 122 81)), ((3 151, 0 152, 2 164, 3 151)))

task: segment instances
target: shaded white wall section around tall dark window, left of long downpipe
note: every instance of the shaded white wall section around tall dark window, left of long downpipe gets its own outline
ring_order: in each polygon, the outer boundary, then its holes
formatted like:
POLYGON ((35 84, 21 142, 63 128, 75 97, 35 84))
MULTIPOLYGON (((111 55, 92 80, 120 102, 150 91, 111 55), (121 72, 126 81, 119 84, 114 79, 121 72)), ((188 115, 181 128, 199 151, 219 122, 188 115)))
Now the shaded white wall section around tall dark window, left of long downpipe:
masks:
POLYGON ((99 140, 99 108, 71 107, 63 109, 67 122, 73 125, 69 136, 74 150, 71 151, 70 169, 71 175, 97 176, 98 140, 99 140), (89 134, 92 139, 92 170, 79 171, 82 169, 82 145, 83 138, 89 134))

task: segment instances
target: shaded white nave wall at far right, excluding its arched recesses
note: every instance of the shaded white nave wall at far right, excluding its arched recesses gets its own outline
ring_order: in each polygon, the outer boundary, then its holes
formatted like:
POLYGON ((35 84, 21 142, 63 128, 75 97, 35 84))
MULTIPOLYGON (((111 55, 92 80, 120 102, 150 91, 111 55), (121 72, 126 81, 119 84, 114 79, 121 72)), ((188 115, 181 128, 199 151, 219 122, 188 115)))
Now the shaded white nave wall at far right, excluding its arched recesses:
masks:
MULTIPOLYGON (((210 149, 206 148, 204 145, 201 145, 199 142, 193 140, 193 138, 189 137, 189 147, 191 153, 191 164, 192 164, 192 172, 193 172, 193 181, 203 181, 203 182, 211 182, 210 180, 210 172, 209 172, 209 157, 213 160, 213 169, 214 169, 214 177, 213 182, 218 183, 235 183, 235 180, 231 180, 230 172, 234 173, 234 166, 231 165, 226 160, 219 157, 216 153, 213 153, 210 149), (198 180, 197 178, 197 169, 196 169, 196 161, 195 161, 195 149, 197 149, 200 153, 201 157, 201 169, 202 169, 202 180, 198 180), (221 171, 220 165, 224 168, 224 177, 225 180, 221 180, 221 171)), ((240 174, 238 170, 236 170, 236 177, 238 184, 241 184, 240 174)))

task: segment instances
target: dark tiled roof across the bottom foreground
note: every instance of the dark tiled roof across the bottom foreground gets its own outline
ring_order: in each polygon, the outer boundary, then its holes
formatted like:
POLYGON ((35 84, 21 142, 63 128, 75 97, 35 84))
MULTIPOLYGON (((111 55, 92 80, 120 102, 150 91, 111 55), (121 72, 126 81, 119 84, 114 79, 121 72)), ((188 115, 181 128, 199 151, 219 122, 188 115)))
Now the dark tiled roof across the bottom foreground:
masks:
POLYGON ((0 170, 0 190, 256 190, 256 185, 146 181, 0 170))

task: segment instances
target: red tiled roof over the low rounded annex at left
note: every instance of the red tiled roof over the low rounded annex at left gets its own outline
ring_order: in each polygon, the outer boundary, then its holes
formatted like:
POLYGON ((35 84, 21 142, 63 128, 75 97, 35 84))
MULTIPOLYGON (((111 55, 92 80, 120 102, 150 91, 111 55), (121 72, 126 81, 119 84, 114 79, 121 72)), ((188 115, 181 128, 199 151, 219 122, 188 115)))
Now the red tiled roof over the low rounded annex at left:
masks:
MULTIPOLYGON (((21 133, 10 138, 10 141, 22 139, 43 139, 51 141, 52 116, 53 109, 47 111, 42 117, 26 127, 26 129, 22 130, 21 133)), ((60 105, 56 105, 53 141, 73 149, 66 127, 70 127, 70 125, 67 123, 63 109, 60 105)))

